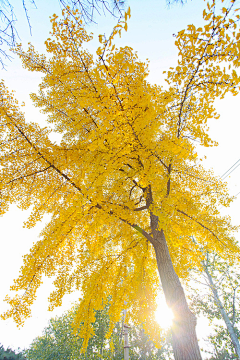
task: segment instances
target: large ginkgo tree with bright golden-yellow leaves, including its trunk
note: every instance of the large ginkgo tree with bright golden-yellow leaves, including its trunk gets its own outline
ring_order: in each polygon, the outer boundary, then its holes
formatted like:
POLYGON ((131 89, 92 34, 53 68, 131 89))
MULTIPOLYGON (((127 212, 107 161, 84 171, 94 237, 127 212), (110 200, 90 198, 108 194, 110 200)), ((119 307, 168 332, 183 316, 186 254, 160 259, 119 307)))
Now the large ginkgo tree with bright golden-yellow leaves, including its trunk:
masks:
POLYGON ((207 133, 207 120, 218 117, 213 102, 239 91, 238 9, 235 2, 222 10, 208 3, 205 25, 178 33, 178 65, 166 74, 167 89, 147 81, 148 63, 132 48, 115 47, 128 17, 130 9, 108 39, 99 36, 96 55, 87 50, 92 34, 67 12, 52 17, 47 55, 32 45, 15 49, 25 68, 43 74, 31 97, 50 125, 26 122, 1 83, 1 213, 16 202, 32 207, 26 227, 46 213, 51 221, 24 258, 3 318, 23 323, 42 276, 53 276, 50 310, 66 293, 83 297, 75 317, 76 329, 83 322, 83 350, 94 309, 109 296, 109 334, 127 306, 128 320, 145 322, 157 343, 160 277, 174 314, 175 359, 201 359, 179 277, 200 264, 199 246, 239 254, 236 227, 218 211, 232 200, 226 184, 204 170, 195 145, 215 144, 207 133), (54 133, 60 142, 51 140, 54 133))

